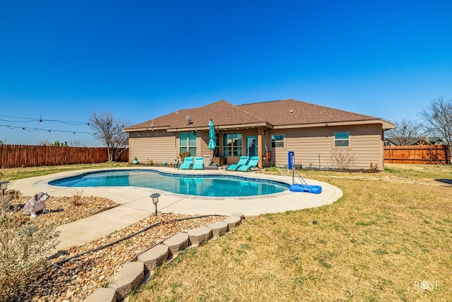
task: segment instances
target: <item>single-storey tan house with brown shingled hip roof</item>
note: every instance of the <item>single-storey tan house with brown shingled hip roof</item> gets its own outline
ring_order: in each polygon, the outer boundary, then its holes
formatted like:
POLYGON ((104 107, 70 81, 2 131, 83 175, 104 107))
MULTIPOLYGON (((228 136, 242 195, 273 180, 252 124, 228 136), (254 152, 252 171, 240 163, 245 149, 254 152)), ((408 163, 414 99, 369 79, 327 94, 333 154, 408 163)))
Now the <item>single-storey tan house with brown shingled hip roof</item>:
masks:
MULTIPOLYGON (((237 163, 240 156, 261 156, 259 168, 295 164, 312 168, 383 170, 383 132, 394 124, 298 100, 232 105, 219 100, 178 110, 124 129, 129 157, 141 163, 172 163, 179 153, 206 156, 215 163, 237 163), (217 148, 208 148, 208 122, 215 124, 217 148)), ((209 161, 210 162, 210 161, 209 161)))

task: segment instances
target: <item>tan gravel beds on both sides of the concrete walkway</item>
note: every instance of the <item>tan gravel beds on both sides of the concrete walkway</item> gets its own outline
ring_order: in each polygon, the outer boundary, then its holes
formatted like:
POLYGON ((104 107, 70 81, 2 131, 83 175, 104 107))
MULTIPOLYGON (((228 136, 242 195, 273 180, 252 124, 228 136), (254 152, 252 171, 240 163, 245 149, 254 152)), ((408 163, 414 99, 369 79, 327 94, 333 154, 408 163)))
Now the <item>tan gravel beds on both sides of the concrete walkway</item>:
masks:
MULTIPOLYGON (((16 202, 25 204, 29 198, 20 197, 16 199, 16 202)), ((59 225, 117 206, 111 200, 102 197, 76 197, 75 199, 74 197, 49 197, 46 204, 50 212, 38 214, 35 219, 43 224, 55 223, 59 225), (75 199, 77 199, 79 205, 74 205, 75 199)), ((52 255, 51 265, 42 274, 40 281, 36 284, 30 284, 31 290, 26 296, 23 296, 23 301, 82 301, 93 291, 107 284, 109 279, 121 269, 122 265, 133 260, 134 257, 153 245, 180 231, 207 226, 210 223, 225 219, 225 216, 207 216, 174 221, 191 217, 195 216, 182 214, 148 216, 127 228, 115 231, 98 240, 59 251, 56 255, 52 255), (112 244, 155 223, 160 224, 138 233, 136 236, 112 244), (109 246, 80 257, 74 257, 104 245, 109 246), (73 258, 69 260, 71 257, 73 258)))

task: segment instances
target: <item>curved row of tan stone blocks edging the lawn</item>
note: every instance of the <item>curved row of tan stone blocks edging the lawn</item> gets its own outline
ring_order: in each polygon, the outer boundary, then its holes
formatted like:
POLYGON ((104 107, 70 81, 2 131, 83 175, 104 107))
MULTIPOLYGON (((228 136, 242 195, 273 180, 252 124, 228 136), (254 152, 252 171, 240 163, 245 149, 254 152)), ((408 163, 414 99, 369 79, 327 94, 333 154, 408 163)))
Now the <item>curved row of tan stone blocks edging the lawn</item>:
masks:
POLYGON ((141 286, 145 281, 145 275, 153 272, 164 262, 177 257, 179 251, 188 247, 196 247, 210 239, 222 236, 228 231, 238 226, 245 219, 242 213, 232 213, 223 221, 194 228, 187 232, 179 232, 162 243, 135 257, 136 261, 127 262, 114 274, 109 281, 107 288, 96 289, 93 294, 86 297, 85 302, 117 302, 126 299, 137 286, 141 286))

